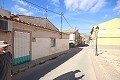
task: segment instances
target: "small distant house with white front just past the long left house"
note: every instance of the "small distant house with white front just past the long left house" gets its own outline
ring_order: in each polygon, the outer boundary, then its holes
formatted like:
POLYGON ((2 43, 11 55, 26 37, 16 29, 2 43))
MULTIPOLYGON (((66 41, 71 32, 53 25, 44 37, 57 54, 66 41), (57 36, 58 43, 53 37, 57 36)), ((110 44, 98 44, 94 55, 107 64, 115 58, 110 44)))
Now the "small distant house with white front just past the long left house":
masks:
POLYGON ((80 33, 77 29, 62 30, 63 33, 69 34, 69 46, 78 46, 81 43, 80 33))

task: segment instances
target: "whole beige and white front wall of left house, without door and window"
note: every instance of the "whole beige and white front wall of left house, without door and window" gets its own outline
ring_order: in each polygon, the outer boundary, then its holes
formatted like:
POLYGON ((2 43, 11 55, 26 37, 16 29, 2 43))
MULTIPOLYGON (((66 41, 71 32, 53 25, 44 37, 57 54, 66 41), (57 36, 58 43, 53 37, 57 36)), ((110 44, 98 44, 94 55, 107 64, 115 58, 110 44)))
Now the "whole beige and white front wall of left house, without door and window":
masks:
MULTIPOLYGON (((31 33, 32 60, 69 49, 68 34, 63 34, 61 39, 60 32, 35 28, 34 26, 25 25, 18 22, 13 22, 13 30, 29 31, 31 33), (50 38, 56 39, 55 47, 50 46, 50 38)), ((0 31, 0 40, 5 40, 11 45, 14 44, 13 36, 14 35, 12 35, 12 32, 0 31)), ((12 46, 10 51, 13 52, 12 46)))

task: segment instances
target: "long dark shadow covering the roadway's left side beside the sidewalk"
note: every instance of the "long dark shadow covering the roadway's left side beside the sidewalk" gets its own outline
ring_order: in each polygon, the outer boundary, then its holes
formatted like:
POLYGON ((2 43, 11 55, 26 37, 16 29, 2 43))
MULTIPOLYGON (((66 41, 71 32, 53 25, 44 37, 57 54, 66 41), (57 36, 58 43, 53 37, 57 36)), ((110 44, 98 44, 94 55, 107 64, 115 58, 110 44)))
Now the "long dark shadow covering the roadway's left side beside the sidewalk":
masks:
MULTIPOLYGON (((44 64, 40 64, 38 66, 26 70, 25 72, 20 72, 17 75, 14 75, 12 77, 12 80, 39 80, 45 74, 55 69, 59 65, 63 64, 68 59, 79 53, 81 50, 82 48, 72 48, 70 52, 63 54, 57 57, 56 59, 49 60, 44 64)), ((74 72, 70 72, 68 74, 74 74, 74 72)))

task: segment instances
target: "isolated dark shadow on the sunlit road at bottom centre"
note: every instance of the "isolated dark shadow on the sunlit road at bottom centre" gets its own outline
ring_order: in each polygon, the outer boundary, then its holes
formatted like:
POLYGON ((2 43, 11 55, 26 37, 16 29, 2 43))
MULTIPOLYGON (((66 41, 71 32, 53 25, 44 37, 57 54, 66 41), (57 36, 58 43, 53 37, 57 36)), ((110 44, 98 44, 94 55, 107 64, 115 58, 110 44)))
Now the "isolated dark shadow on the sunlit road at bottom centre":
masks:
POLYGON ((79 79, 82 79, 85 75, 75 77, 75 74, 78 72, 81 72, 81 71, 80 70, 70 71, 68 73, 58 76, 57 78, 55 78, 53 80, 79 80, 79 79))

